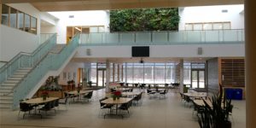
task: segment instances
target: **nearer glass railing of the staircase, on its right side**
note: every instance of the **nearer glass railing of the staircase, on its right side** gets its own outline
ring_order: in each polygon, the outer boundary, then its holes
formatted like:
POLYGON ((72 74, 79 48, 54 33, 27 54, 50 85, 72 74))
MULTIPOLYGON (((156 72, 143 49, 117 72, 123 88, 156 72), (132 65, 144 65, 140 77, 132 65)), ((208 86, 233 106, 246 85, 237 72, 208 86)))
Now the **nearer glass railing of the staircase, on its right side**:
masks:
MULTIPOLYGON (((49 51, 44 57, 37 62, 37 65, 32 67, 32 70, 26 74, 24 79, 21 79, 19 84, 9 93, 14 93, 13 108, 19 105, 19 101, 25 98, 27 94, 38 84, 38 82, 48 73, 50 70, 57 70, 61 67, 62 63, 67 60, 67 57, 73 53, 73 51, 79 46, 79 34, 75 35, 69 44, 64 46, 58 53, 49 51)), ((5 94, 9 95, 9 94, 5 94)))

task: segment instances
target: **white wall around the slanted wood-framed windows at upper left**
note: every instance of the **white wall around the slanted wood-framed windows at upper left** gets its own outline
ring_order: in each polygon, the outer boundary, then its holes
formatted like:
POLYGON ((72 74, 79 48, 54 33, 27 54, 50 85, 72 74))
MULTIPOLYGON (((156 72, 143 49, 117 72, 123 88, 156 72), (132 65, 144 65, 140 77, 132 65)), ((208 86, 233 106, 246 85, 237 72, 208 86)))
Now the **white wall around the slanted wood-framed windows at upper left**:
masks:
POLYGON ((23 32, 9 26, 0 26, 0 61, 9 61, 15 55, 19 54, 20 51, 32 52, 40 43, 41 18, 48 22, 55 21, 53 16, 40 12, 29 3, 12 3, 9 4, 9 6, 36 17, 38 19, 38 34, 35 35, 29 32, 23 32))

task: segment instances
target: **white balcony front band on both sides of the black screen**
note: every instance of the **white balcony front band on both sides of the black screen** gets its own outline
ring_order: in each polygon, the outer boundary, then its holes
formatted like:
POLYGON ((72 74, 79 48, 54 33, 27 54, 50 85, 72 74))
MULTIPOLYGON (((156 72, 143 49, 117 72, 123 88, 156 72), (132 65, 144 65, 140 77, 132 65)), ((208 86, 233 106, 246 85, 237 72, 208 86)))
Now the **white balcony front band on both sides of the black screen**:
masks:
MULTIPOLYGON (((244 44, 187 44, 187 45, 152 45, 149 48, 150 57, 217 57, 244 56, 244 44), (197 55, 197 49, 202 48, 202 55, 197 55)), ((81 46, 74 58, 130 58, 131 46, 81 46), (86 55, 90 49, 90 55, 86 55)))

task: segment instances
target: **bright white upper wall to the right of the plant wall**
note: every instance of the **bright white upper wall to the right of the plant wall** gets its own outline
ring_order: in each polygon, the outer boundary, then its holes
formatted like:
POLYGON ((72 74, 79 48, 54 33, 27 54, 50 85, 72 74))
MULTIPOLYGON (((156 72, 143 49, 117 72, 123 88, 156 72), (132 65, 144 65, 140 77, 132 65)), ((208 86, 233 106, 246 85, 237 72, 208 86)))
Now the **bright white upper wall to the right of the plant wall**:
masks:
POLYGON ((198 22, 223 22, 230 21, 231 29, 244 28, 244 15, 240 14, 244 9, 243 5, 221 5, 179 8, 180 23, 179 30, 184 30, 185 23, 198 22), (228 10, 222 13, 222 10, 228 10))

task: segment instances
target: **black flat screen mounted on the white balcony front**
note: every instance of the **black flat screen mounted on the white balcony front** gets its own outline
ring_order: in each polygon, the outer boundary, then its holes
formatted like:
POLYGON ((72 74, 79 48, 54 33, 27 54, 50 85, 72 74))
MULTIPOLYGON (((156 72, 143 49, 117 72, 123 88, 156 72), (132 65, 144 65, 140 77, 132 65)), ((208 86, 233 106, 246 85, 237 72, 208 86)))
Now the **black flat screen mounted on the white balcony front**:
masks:
POLYGON ((132 57, 149 57, 149 46, 132 46, 132 57))

